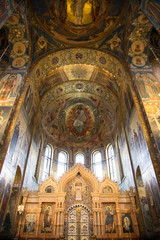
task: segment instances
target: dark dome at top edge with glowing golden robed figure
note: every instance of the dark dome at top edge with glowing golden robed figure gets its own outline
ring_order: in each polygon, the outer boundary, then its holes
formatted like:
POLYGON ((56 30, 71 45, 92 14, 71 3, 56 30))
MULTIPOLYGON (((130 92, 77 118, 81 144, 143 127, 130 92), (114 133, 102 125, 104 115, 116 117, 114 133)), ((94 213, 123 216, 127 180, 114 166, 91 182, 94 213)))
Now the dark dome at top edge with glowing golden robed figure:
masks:
POLYGON ((69 44, 93 42, 117 26, 127 0, 33 0, 38 23, 51 37, 69 44))

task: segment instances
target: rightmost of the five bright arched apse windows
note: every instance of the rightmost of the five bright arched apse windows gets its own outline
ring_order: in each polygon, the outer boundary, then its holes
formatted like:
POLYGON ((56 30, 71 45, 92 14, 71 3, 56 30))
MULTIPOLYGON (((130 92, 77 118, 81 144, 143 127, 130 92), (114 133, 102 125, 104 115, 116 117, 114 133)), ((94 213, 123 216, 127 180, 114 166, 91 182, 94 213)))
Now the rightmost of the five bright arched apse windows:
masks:
POLYGON ((110 144, 107 148, 107 156, 108 156, 108 166, 110 178, 113 181, 117 181, 117 173, 116 173, 116 164, 115 164, 115 154, 112 144, 110 144))

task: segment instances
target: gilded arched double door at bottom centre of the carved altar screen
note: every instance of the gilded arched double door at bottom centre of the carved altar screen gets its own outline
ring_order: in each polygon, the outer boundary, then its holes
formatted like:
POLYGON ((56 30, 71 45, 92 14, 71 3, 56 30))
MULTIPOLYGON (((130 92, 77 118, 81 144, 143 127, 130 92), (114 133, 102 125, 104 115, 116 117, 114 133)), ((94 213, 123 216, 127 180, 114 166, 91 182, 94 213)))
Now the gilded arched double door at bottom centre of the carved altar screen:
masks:
POLYGON ((89 212, 83 206, 68 213, 68 240, 89 240, 89 212))

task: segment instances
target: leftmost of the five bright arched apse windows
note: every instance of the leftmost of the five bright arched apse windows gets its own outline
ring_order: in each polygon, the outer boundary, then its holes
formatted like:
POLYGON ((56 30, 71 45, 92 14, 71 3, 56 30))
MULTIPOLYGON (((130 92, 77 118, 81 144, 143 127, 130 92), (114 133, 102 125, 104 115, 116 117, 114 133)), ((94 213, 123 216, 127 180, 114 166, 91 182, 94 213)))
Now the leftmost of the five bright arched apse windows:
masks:
POLYGON ((52 163, 52 148, 50 145, 47 145, 44 154, 42 181, 49 177, 51 171, 51 163, 52 163))

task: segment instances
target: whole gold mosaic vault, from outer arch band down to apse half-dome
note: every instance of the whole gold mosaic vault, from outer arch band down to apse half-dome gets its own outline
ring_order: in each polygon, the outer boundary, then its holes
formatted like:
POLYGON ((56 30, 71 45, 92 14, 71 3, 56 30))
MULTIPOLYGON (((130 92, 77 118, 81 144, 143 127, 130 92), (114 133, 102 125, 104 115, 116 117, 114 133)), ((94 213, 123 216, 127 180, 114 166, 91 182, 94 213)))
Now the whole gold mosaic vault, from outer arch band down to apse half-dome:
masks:
POLYGON ((62 147, 107 143, 120 121, 118 89, 126 78, 122 63, 101 51, 66 49, 41 59, 30 80, 50 142, 62 147))

